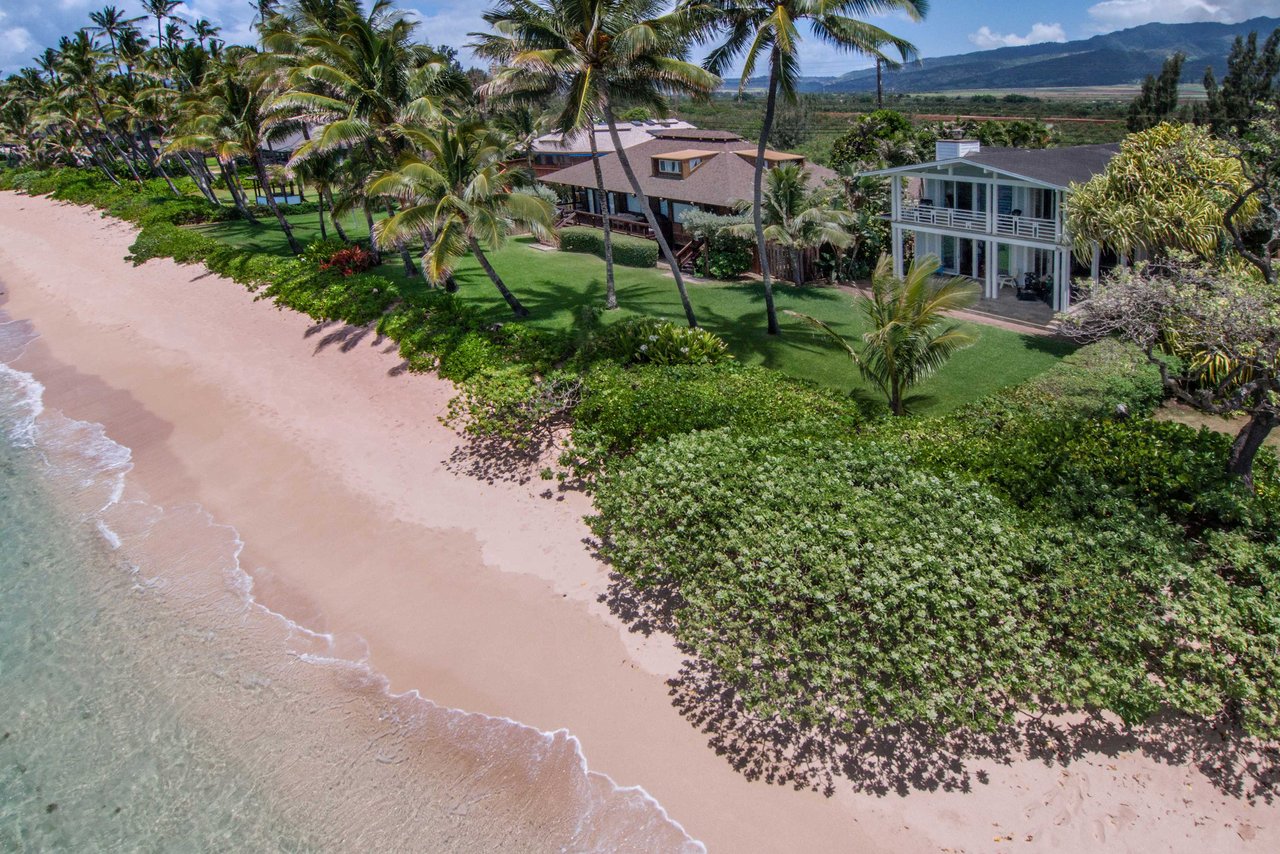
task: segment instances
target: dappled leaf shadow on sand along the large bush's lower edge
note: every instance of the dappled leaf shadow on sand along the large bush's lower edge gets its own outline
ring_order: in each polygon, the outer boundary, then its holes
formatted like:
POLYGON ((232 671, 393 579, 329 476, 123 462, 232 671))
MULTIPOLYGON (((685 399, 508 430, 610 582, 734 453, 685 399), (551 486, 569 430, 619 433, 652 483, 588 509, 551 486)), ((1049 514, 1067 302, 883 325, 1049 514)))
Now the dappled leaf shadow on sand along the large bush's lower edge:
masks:
MULTIPOLYGON (((598 543, 590 543, 598 547, 598 543)), ((600 602, 631 631, 671 631, 680 597, 673 589, 637 590, 611 574, 600 602)), ((705 661, 687 656, 667 681, 676 709, 708 745, 748 780, 827 796, 846 785, 876 795, 970 791, 987 784, 975 764, 1037 762, 1069 767, 1089 757, 1142 753, 1161 764, 1193 766, 1222 794, 1272 803, 1280 786, 1280 745, 1244 736, 1226 721, 1157 716, 1129 727, 1111 716, 1048 709, 1018 714, 993 732, 937 735, 923 726, 873 726, 852 720, 845 731, 806 727, 749 711, 733 686, 705 661)))

